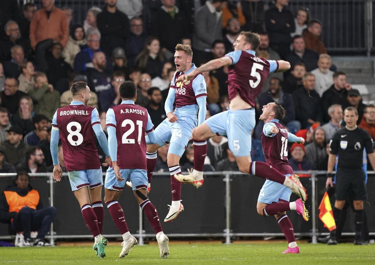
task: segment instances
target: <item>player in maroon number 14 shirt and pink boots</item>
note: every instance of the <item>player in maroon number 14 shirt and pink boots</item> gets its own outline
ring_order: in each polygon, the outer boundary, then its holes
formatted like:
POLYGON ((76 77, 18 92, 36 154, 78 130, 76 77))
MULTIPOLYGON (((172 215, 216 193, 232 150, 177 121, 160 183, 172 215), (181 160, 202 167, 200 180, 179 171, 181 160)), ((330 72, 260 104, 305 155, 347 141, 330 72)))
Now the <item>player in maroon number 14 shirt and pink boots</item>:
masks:
MULTIPOLYGON (((277 102, 271 102, 263 106, 260 120, 264 121, 261 136, 264 158, 273 168, 289 177, 293 175, 293 169, 288 162, 288 142, 299 142, 303 144, 305 139, 287 132, 279 120, 284 118, 284 108, 277 102)), ((293 225, 286 211, 295 210, 302 215, 303 220, 308 221, 309 215, 302 199, 289 202, 291 190, 280 183, 266 180, 260 190, 257 203, 257 211, 261 216, 275 216, 281 231, 288 241, 286 253, 300 253, 294 238, 293 225)))

